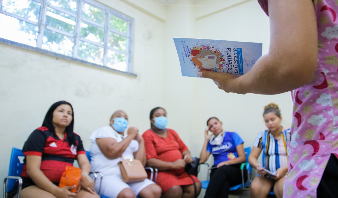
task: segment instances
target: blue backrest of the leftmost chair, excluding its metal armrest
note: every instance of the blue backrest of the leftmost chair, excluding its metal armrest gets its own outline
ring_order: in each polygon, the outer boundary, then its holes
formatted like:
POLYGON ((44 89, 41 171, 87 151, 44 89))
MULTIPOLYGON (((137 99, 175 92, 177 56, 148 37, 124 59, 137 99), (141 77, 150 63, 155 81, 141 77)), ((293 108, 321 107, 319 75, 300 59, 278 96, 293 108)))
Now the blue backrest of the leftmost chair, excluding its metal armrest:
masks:
MULTIPOLYGON (((20 176, 21 175, 24 158, 25 158, 25 155, 22 153, 21 149, 14 148, 14 147, 12 148, 12 153, 10 155, 10 160, 9 160, 8 176, 20 176)), ((7 192, 11 191, 16 182, 17 181, 14 179, 8 179, 6 191, 7 192)))

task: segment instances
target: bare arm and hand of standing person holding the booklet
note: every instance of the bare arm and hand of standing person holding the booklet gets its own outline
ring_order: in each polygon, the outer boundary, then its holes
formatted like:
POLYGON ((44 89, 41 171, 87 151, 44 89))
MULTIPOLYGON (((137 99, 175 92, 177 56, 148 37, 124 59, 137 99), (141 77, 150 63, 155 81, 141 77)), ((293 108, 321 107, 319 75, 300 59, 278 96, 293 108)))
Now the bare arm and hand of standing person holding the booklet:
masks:
MULTIPOLYGON (((265 5, 265 11, 270 19, 269 52, 243 76, 204 70, 197 73, 198 76, 214 80, 218 88, 225 92, 284 93, 308 84, 317 69, 319 29, 313 2, 310 0, 269 1, 269 3, 266 0, 259 1, 265 5), (311 33, 304 35, 304 32, 311 33)), ((334 24, 330 27, 334 27, 334 24)), ((320 31, 319 36, 323 31, 320 31)), ((332 40, 330 41, 333 43, 332 40)), ((326 41, 320 40, 320 42, 326 41)), ((334 52, 334 45, 328 51, 334 52)))

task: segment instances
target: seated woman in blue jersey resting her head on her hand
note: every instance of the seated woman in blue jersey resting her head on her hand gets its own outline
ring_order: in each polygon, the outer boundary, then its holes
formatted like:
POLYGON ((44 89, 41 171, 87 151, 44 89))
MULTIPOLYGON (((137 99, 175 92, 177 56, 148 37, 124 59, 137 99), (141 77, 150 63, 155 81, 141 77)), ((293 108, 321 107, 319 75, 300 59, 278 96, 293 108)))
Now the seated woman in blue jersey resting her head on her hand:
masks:
MULTIPOLYGON (((212 154, 214 165, 204 198, 227 198, 229 187, 242 183, 240 166, 246 161, 244 142, 236 132, 224 131, 218 118, 209 118, 207 126, 200 159, 204 163, 212 154)), ((246 179, 246 173, 244 177, 246 179)))

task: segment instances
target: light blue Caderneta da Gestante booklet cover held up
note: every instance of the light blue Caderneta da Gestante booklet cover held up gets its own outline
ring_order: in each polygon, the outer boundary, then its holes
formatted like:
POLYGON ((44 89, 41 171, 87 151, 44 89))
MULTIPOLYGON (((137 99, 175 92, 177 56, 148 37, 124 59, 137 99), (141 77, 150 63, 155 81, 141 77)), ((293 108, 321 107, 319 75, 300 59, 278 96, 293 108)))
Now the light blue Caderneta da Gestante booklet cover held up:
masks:
POLYGON ((183 76, 199 77, 200 70, 240 76, 262 56, 262 43, 195 38, 174 38, 174 43, 183 76))

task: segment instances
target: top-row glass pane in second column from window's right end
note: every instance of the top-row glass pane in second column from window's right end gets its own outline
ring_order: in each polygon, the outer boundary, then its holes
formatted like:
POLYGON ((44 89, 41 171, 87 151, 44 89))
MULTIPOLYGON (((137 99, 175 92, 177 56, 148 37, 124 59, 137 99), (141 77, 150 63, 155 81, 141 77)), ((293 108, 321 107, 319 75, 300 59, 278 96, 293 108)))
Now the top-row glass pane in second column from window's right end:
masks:
POLYGON ((82 8, 81 16, 83 18, 104 25, 104 15, 105 15, 104 10, 91 6, 87 3, 82 3, 81 8, 82 8))

